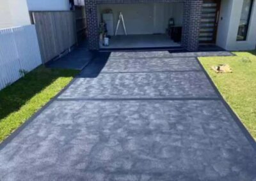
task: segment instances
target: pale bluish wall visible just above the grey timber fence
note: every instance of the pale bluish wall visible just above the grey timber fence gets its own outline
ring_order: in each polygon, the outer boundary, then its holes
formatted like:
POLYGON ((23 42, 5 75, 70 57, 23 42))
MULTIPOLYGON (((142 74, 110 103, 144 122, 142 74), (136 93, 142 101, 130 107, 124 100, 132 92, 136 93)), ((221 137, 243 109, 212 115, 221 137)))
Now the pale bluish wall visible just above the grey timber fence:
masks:
POLYGON ((68 0, 27 0, 29 11, 68 11, 68 0))

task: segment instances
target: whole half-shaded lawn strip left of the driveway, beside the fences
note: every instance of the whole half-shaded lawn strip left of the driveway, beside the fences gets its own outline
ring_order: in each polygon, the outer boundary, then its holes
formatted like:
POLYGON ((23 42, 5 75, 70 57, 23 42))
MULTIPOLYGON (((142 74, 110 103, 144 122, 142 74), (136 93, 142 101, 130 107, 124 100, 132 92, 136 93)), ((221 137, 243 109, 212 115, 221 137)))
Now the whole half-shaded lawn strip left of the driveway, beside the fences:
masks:
POLYGON ((0 91, 0 143, 56 96, 77 73, 40 66, 0 91))

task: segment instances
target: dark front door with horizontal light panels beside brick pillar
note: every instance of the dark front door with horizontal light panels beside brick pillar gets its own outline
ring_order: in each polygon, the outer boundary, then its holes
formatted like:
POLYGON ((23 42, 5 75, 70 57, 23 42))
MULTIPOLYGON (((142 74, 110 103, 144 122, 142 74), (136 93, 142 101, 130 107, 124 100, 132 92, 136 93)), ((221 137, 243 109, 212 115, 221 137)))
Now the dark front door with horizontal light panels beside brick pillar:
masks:
POLYGON ((200 43, 215 43, 220 13, 220 0, 204 0, 200 25, 200 43))

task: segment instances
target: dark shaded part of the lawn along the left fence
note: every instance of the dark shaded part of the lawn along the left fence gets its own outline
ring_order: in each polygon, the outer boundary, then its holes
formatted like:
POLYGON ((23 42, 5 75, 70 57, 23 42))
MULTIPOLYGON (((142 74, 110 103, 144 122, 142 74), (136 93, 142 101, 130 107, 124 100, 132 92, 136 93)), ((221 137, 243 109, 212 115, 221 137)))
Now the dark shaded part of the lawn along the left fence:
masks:
POLYGON ((0 122, 17 112, 36 94, 43 91, 60 77, 72 77, 77 71, 67 69, 49 69, 40 66, 17 82, 0 91, 0 122))

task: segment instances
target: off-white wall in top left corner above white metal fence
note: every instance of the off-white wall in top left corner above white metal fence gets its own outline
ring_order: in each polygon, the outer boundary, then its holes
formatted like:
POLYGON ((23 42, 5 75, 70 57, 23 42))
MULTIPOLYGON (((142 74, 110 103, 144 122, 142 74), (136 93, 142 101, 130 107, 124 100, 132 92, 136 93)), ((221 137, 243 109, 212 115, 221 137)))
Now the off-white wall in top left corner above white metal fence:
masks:
POLYGON ((0 1, 0 28, 29 24, 31 23, 26 0, 0 1))

